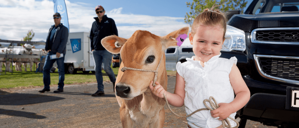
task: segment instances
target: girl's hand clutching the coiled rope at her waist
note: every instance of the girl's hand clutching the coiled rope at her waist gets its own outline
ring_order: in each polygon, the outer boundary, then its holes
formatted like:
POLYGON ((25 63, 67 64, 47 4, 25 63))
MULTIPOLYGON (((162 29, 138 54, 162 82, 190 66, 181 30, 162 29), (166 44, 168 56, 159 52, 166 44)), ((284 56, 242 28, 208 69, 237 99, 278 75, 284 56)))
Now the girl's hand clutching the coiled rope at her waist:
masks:
POLYGON ((211 111, 211 116, 216 118, 219 117, 219 120, 224 120, 228 118, 229 115, 231 115, 232 112, 232 106, 229 103, 219 103, 219 108, 211 111))

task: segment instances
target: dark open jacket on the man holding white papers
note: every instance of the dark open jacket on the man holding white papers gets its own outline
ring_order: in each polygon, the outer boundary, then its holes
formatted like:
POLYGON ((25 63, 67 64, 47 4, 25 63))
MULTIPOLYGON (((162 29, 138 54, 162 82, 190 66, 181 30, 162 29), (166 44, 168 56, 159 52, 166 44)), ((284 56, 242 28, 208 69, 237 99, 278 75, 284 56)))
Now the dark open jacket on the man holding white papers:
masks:
POLYGON ((57 26, 57 30, 54 35, 53 43, 52 43, 52 48, 49 48, 49 38, 52 29, 55 28, 55 25, 51 26, 50 31, 48 33, 47 41, 46 41, 46 46, 45 50, 51 50, 51 52, 58 52, 58 53, 66 53, 66 43, 68 42, 68 28, 63 26, 62 23, 60 23, 57 26))

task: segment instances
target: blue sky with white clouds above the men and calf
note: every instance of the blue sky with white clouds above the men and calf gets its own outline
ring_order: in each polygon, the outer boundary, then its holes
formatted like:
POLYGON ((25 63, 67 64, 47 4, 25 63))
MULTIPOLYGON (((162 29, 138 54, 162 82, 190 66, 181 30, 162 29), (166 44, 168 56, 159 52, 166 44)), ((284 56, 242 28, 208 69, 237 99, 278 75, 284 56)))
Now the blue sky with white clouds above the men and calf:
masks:
MULTIPOLYGON (((252 0, 248 0, 247 6, 252 0)), ((89 32, 94 8, 102 5, 106 15, 115 20, 118 35, 129 38, 136 30, 147 30, 158 36, 189 26, 184 16, 191 0, 65 0, 70 32, 89 32)), ((52 0, 0 0, 0 39, 21 40, 33 29, 32 41, 45 41, 54 25, 52 0), (3 13, 5 12, 5 13, 3 13)))

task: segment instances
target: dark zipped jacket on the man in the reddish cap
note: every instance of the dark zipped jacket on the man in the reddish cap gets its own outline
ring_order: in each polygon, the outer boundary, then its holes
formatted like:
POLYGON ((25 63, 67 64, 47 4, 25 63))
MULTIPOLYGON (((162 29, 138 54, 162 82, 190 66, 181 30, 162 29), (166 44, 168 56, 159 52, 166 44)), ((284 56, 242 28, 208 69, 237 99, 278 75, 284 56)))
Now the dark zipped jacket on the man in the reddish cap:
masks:
POLYGON ((101 23, 99 18, 94 18, 96 21, 92 23, 90 31, 90 48, 91 50, 105 50, 101 44, 101 40, 104 37, 116 35, 118 36, 115 22, 112 18, 108 18, 106 15, 103 16, 101 23))

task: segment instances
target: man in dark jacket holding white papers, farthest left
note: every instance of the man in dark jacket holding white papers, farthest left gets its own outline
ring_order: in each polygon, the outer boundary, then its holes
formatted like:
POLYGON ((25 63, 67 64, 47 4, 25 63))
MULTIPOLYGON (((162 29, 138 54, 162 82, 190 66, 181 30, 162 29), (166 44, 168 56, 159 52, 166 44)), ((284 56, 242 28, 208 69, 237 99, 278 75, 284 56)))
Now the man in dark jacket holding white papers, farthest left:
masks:
POLYGON ((50 69, 53 67, 55 61, 58 68, 59 82, 58 89, 54 91, 54 93, 63 92, 64 86, 64 57, 66 42, 68 41, 68 28, 60 23, 61 16, 59 13, 54 13, 53 18, 55 25, 50 28, 45 46, 45 50, 48 51, 48 54, 43 67, 44 89, 39 91, 41 93, 50 91, 50 69))

